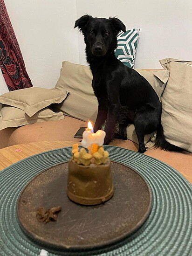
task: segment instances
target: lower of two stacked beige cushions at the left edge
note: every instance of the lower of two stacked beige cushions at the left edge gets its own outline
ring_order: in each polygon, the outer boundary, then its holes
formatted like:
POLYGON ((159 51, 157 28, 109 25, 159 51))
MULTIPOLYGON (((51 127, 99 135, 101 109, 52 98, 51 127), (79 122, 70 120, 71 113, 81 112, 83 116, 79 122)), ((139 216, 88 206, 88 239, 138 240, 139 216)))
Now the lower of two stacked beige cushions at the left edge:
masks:
POLYGON ((30 118, 23 110, 4 105, 0 111, 0 130, 6 129, 7 127, 18 127, 22 125, 61 119, 64 119, 62 112, 55 113, 48 107, 38 111, 33 115, 33 117, 30 118))

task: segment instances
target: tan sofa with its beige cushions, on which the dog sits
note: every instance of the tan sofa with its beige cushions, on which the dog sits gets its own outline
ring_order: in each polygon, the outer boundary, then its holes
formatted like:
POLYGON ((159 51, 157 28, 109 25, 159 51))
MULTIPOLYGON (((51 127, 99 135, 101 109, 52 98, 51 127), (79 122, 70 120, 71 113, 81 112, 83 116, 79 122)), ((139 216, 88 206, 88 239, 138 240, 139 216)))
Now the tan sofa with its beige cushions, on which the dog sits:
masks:
MULTIPOLYGON (((159 159, 188 180, 192 169, 192 62, 176 59, 160 61, 162 69, 136 69, 154 88, 162 103, 161 123, 165 138, 180 146, 181 152, 154 147, 155 134, 145 136, 144 155, 159 159)), ((26 88, 0 96, 0 148, 35 141, 74 141, 75 132, 94 124, 97 100, 91 87, 88 66, 64 61, 53 89, 26 88)), ((127 127, 127 140, 110 145, 138 150, 134 125, 127 127)), ((192 182, 192 180, 190 180, 192 182)))

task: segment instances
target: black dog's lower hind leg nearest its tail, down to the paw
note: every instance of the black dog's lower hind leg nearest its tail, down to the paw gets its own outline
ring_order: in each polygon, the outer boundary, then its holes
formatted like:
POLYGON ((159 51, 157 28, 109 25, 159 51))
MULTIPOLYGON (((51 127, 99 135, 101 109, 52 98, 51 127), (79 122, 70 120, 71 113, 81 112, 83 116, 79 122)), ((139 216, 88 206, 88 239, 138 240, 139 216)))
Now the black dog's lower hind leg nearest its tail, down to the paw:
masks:
POLYGON ((139 112, 135 114, 134 125, 135 125, 135 131, 137 134, 137 139, 139 142, 138 152, 144 153, 146 151, 146 148, 144 146, 145 123, 142 118, 142 114, 139 112))

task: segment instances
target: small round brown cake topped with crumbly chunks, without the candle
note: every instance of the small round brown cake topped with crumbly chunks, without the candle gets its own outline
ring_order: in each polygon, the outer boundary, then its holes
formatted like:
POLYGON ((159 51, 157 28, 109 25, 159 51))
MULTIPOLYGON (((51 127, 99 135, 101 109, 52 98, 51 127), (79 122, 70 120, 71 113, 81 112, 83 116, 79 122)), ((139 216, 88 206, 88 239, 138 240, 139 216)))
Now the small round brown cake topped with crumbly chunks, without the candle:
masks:
POLYGON ((98 161, 97 155, 87 155, 89 163, 86 162, 86 165, 79 163, 75 157, 69 160, 67 195, 71 201, 82 205, 97 205, 113 196, 110 158, 105 157, 104 161, 98 161))

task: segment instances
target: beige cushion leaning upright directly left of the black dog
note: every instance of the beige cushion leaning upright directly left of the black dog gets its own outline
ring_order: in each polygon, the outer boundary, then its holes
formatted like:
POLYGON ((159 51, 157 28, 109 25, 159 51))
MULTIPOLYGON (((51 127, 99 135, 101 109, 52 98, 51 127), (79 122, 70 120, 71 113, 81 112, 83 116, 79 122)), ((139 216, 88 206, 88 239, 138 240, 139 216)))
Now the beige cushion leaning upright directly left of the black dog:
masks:
POLYGON ((95 122, 98 103, 91 83, 92 74, 89 66, 64 61, 55 89, 68 90, 69 96, 56 108, 67 116, 86 122, 88 120, 95 122))

